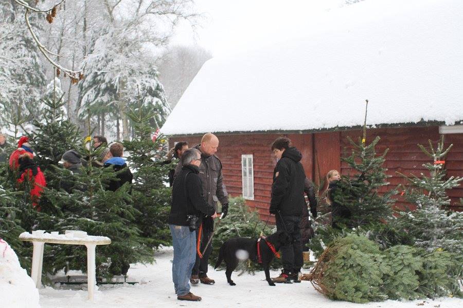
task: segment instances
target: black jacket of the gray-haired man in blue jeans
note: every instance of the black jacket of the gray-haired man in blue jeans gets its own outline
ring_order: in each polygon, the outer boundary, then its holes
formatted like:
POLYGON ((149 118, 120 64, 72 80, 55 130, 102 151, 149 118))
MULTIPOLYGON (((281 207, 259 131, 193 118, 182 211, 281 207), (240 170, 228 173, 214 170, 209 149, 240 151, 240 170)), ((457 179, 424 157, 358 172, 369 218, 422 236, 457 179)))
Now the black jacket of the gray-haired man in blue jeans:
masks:
POLYGON ((204 199, 203 184, 198 174, 198 167, 187 165, 176 175, 172 187, 169 224, 188 226, 187 215, 197 215, 199 225, 203 215, 212 216, 216 213, 215 207, 204 199))

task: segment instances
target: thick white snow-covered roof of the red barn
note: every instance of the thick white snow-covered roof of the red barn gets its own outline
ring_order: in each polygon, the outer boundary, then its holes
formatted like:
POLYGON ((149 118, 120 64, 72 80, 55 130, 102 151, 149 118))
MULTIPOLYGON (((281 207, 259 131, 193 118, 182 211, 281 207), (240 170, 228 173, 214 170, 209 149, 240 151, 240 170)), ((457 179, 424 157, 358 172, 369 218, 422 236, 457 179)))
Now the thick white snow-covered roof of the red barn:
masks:
MULTIPOLYGON (((165 134, 463 120, 463 1, 368 0, 305 38, 207 61, 165 134)), ((302 32, 302 29, 300 29, 302 32)))

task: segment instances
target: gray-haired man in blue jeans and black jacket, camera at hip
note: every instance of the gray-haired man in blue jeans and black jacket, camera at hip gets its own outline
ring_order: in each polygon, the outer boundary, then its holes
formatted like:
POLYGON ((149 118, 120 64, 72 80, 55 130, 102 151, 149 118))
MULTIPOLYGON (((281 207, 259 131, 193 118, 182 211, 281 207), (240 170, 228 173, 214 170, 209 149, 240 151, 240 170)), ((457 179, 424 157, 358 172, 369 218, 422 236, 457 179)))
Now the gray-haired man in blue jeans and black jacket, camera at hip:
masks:
POLYGON ((190 292, 190 274, 196 260, 196 233, 203 215, 216 218, 213 205, 206 202, 203 183, 199 177, 201 152, 186 150, 181 158, 181 171, 176 175, 172 187, 172 207, 169 227, 172 233, 174 258, 172 280, 179 300, 199 301, 201 297, 190 292))

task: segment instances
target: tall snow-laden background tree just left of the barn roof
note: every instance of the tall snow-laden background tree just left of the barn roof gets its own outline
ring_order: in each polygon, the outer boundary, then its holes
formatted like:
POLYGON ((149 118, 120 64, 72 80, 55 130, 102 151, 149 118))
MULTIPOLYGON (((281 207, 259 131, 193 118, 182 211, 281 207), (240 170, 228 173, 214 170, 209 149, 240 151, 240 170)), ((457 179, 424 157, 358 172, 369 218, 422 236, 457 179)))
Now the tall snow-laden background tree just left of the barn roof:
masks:
POLYGON ((156 111, 152 121, 158 127, 166 120, 170 107, 158 80, 156 58, 146 49, 147 38, 140 36, 139 26, 126 20, 113 26, 95 37, 86 62, 88 76, 79 84, 80 103, 101 119, 110 115, 113 121, 120 120, 122 139, 128 140, 127 113, 129 108, 137 108, 138 96, 145 108, 156 111))

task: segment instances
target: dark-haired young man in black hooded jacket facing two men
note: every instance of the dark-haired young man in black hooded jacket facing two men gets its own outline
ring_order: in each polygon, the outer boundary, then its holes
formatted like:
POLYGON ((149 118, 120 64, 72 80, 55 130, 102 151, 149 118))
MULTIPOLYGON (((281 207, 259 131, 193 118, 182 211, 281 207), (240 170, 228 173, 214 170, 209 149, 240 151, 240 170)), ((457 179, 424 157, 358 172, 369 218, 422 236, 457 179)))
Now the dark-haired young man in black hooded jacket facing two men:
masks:
POLYGON ((301 153, 290 147, 291 140, 277 138, 272 144, 272 151, 278 162, 273 171, 272 199, 270 213, 275 214, 278 232, 287 231, 293 242, 281 246, 283 271, 274 282, 300 282, 298 274, 304 264, 300 242, 299 222, 302 208, 307 206, 304 200, 306 174, 300 163, 301 153))

